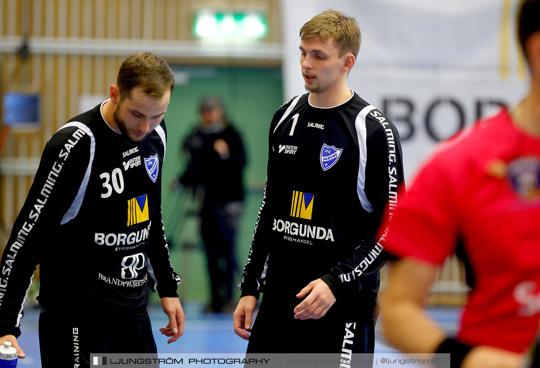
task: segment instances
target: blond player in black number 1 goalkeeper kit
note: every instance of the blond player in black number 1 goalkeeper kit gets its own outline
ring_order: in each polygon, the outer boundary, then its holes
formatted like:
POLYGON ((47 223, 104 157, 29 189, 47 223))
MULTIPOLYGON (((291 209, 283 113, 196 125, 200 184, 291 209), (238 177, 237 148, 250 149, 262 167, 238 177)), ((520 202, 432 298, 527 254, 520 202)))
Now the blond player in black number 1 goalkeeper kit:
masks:
POLYGON ((375 236, 403 182, 401 145, 393 123, 347 86, 360 49, 355 18, 322 12, 300 38, 309 93, 270 124, 234 332, 249 340, 247 353, 335 353, 345 363, 374 351, 383 265, 375 236))

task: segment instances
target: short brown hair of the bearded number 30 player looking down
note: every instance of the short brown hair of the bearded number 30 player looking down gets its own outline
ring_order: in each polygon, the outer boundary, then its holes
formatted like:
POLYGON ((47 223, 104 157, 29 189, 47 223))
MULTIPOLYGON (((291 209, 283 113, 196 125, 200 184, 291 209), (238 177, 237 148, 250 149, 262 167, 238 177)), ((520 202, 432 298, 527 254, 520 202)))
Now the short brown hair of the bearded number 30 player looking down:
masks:
POLYGON ((174 88, 174 76, 167 62, 151 52, 139 52, 124 60, 118 71, 116 84, 120 99, 131 97, 131 91, 138 86, 154 98, 161 98, 174 88))

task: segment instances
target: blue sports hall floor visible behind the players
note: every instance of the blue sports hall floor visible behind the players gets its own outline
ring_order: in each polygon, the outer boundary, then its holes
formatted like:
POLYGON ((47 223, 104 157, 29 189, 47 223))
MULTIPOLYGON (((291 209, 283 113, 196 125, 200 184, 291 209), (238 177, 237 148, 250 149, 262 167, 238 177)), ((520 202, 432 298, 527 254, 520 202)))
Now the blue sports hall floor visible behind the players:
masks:
MULTIPOLYGON (((232 313, 203 313, 200 303, 185 303, 184 313, 186 322, 184 335, 177 342, 167 344, 168 338, 159 332, 165 327, 168 320, 159 306, 149 309, 152 320, 154 338, 159 353, 243 353, 246 351, 247 341, 236 336, 232 328, 232 313)), ((457 308, 432 308, 428 310, 448 333, 456 331, 460 310, 457 308)), ((18 360, 18 366, 41 367, 39 359, 38 338, 39 309, 25 307, 24 318, 21 320, 21 337, 18 342, 26 353, 26 358, 18 360)), ((257 323, 257 319, 255 319, 257 323)), ((396 352, 388 346, 381 337, 381 321, 376 326, 375 353, 396 352)))

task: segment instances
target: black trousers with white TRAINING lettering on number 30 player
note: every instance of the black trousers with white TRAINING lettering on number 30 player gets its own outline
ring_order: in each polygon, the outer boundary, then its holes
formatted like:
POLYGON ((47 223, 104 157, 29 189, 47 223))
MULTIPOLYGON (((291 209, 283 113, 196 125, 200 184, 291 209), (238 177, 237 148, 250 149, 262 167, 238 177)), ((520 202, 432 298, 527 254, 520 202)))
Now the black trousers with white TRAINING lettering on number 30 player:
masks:
POLYGON ((39 350, 43 368, 90 367, 90 353, 157 353, 148 315, 129 320, 103 314, 42 309, 39 350))

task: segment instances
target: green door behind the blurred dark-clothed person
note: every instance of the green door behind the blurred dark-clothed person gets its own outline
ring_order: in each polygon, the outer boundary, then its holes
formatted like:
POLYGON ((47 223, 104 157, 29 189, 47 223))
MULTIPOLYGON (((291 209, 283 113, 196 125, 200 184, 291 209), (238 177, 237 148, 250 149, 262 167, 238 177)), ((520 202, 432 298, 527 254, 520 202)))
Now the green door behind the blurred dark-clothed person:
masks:
POLYGON ((171 259, 174 269, 182 277, 179 295, 183 301, 195 299, 205 302, 210 298, 210 285, 206 256, 198 233, 198 219, 186 216, 187 212, 196 208, 196 201, 170 188, 186 165, 181 144, 193 125, 197 124, 200 98, 208 95, 221 97, 228 118, 244 139, 248 159, 244 170, 245 211, 237 237, 239 282, 265 184, 268 129, 274 112, 284 102, 281 68, 178 66, 172 69, 176 85, 165 115, 167 152, 162 173, 161 209, 165 234, 173 244, 171 259), (176 231, 173 231, 174 228, 176 231), (188 245, 195 247, 186 249, 188 245))

